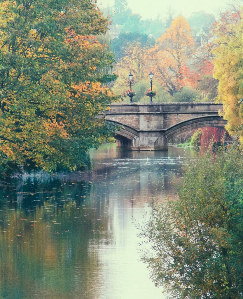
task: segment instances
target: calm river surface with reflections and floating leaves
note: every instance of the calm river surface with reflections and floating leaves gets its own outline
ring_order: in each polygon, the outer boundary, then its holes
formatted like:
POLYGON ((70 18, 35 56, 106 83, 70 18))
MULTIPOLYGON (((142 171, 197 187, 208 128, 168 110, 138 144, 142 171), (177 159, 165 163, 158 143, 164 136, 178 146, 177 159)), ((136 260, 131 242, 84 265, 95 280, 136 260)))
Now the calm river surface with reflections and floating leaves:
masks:
POLYGON ((104 145, 91 155, 92 171, 0 187, 1 299, 163 298, 139 262, 135 222, 153 198, 174 196, 172 180, 195 152, 104 145))

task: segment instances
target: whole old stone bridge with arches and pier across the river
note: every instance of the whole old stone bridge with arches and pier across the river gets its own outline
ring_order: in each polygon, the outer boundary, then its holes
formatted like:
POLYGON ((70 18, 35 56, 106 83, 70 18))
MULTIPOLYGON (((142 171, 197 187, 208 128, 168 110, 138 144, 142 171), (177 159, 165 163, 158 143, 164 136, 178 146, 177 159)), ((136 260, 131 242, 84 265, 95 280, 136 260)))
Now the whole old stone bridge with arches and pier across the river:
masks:
POLYGON ((131 150, 168 149, 170 138, 201 127, 224 128, 226 120, 218 115, 222 104, 112 103, 106 120, 116 124, 118 147, 131 150))

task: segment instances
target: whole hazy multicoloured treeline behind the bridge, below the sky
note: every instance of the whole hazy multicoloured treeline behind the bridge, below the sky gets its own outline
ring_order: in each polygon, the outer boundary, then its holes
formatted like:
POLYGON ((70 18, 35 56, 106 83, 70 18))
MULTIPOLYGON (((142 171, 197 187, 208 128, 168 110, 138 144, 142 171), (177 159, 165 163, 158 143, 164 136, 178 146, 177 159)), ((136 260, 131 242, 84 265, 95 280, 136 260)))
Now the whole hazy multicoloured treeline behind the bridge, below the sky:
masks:
POLYGON ((237 14, 239 7, 231 5, 217 21, 204 11, 184 18, 171 8, 165 18, 155 14, 153 19, 142 19, 132 13, 127 0, 114 0, 114 6, 102 7, 111 20, 103 42, 114 53, 113 71, 118 75, 110 87, 129 101, 124 92, 130 89, 128 74, 132 71, 132 89, 136 91, 133 101, 149 102, 145 93, 150 89, 148 73, 152 69, 154 102, 215 100, 218 80, 213 77, 212 49, 216 28, 225 14, 237 14))

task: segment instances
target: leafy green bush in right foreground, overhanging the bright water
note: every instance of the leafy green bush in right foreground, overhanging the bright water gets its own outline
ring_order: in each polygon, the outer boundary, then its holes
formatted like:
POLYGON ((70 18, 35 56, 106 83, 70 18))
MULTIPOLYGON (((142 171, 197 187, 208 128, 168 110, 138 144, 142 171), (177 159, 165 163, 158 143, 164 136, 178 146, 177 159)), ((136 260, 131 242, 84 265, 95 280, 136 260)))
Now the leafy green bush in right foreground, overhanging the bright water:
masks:
POLYGON ((242 298, 242 184, 238 147, 206 153, 188 165, 178 200, 153 206, 142 259, 170 298, 242 298))

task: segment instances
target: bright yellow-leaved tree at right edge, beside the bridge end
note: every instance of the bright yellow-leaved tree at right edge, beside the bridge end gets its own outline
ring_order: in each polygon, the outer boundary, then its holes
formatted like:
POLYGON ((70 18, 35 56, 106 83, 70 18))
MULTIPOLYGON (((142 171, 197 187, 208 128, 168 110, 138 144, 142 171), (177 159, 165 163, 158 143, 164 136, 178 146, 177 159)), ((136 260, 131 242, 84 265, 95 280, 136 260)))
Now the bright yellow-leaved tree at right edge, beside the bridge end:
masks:
POLYGON ((213 49, 214 77, 219 80, 218 99, 223 102, 223 117, 230 135, 243 142, 243 19, 242 12, 227 12, 217 24, 213 49))

